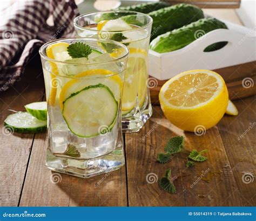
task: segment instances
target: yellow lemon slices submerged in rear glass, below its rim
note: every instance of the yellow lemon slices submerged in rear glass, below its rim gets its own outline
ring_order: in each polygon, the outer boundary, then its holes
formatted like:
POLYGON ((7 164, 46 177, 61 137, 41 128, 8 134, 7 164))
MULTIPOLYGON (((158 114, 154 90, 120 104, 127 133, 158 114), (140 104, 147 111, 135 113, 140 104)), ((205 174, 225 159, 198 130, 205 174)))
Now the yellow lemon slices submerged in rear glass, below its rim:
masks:
POLYGON ((137 96, 139 106, 142 106, 147 91, 147 53, 141 48, 129 50, 122 97, 123 114, 134 108, 137 96))

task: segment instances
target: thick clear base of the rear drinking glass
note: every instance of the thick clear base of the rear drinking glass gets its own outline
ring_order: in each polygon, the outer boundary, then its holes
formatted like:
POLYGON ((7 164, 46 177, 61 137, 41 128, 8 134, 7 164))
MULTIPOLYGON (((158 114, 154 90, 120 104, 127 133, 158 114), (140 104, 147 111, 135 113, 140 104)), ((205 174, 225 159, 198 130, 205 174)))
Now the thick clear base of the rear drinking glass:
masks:
POLYGON ((122 116, 122 132, 138 132, 152 116, 152 113, 152 106, 149 103, 144 110, 134 111, 133 115, 127 114, 126 116, 122 116))

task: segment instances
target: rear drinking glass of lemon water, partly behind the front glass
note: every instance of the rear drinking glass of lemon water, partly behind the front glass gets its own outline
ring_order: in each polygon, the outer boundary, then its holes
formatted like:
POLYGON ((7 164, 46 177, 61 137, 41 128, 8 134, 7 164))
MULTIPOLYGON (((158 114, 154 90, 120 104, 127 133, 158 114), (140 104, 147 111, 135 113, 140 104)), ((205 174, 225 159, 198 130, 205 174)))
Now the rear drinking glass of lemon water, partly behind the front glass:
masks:
POLYGON ((73 24, 78 37, 116 40, 129 48, 122 97, 122 129, 123 132, 139 131, 152 116, 147 85, 152 18, 133 11, 104 11, 80 15, 73 24), (124 27, 125 31, 120 31, 124 27))

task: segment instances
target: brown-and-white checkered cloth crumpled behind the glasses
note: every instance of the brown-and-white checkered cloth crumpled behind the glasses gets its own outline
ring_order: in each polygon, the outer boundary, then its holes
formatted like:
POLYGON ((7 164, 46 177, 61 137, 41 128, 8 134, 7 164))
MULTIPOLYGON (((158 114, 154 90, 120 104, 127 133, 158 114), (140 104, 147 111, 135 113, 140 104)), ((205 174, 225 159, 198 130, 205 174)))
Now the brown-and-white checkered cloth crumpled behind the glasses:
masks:
POLYGON ((2 92, 19 79, 35 48, 47 41, 75 35, 73 19, 78 10, 74 0, 24 0, 15 1, 0 13, 2 92))

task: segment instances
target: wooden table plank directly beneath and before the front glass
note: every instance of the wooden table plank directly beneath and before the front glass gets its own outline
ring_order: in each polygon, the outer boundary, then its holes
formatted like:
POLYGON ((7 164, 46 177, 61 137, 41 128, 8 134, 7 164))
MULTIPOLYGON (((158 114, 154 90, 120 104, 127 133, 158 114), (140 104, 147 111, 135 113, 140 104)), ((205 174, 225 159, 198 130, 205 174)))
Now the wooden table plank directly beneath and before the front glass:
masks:
POLYGON ((127 205, 125 167, 89 179, 51 172, 44 165, 45 138, 35 137, 20 206, 127 205))

